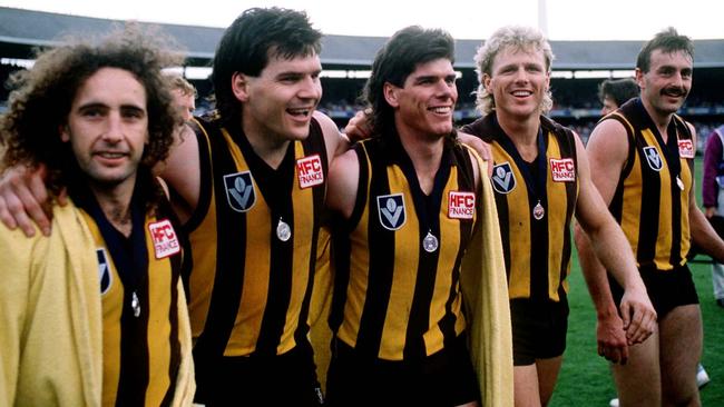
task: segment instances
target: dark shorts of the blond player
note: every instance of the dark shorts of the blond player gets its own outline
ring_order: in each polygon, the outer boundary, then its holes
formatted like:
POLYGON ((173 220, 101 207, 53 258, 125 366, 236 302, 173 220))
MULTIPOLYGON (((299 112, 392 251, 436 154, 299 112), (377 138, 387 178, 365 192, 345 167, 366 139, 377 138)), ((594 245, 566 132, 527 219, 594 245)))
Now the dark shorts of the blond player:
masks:
POLYGON ((560 356, 566 350, 568 301, 532 302, 528 299, 510 301, 512 324, 512 361, 528 366, 536 359, 560 356))

